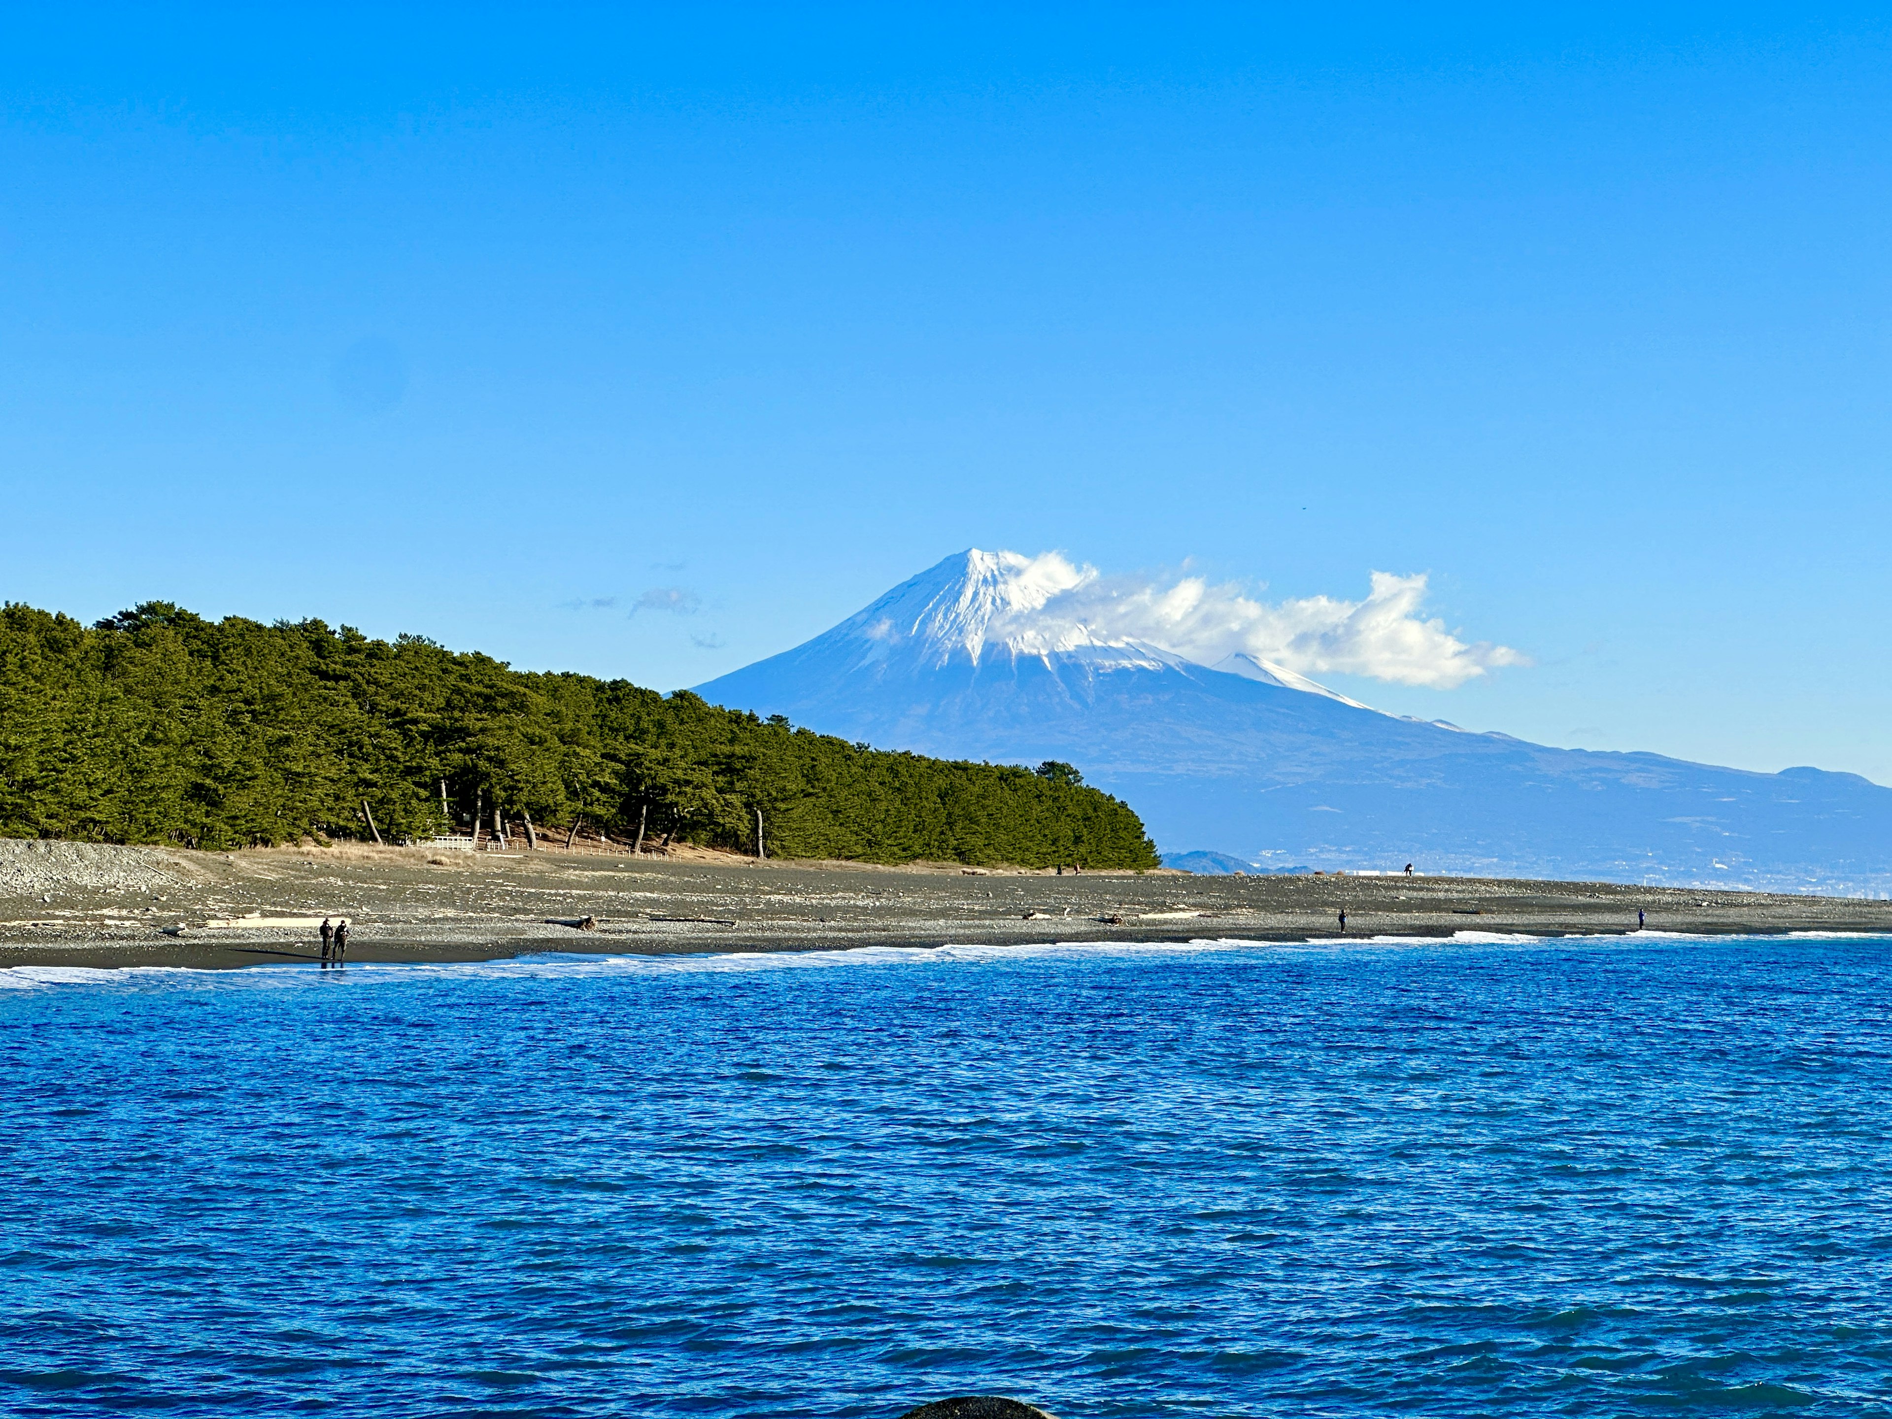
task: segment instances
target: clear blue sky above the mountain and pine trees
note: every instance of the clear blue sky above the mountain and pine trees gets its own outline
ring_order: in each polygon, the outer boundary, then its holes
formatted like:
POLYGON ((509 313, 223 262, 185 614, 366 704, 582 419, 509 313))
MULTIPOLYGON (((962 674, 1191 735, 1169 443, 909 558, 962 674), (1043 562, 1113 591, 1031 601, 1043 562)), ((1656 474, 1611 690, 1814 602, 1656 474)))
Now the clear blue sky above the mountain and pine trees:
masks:
POLYGON ((9 9, 0 598, 670 689, 1427 571, 1536 664, 1341 689, 1892 783, 1883 13, 677 9, 9 9))

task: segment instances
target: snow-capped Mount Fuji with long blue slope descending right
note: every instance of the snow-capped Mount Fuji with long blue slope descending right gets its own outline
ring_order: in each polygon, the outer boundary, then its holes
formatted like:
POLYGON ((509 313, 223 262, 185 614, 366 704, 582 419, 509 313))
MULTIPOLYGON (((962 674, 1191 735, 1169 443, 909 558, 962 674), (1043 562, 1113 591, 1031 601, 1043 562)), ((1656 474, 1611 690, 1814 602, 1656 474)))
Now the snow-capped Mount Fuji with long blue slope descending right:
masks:
POLYGON ((1039 617, 1067 564, 969 551, 713 704, 952 759, 1061 759, 1165 851, 1260 865, 1877 893, 1892 789, 1654 753, 1551 749, 1381 713, 1268 660, 1213 666, 1039 617))

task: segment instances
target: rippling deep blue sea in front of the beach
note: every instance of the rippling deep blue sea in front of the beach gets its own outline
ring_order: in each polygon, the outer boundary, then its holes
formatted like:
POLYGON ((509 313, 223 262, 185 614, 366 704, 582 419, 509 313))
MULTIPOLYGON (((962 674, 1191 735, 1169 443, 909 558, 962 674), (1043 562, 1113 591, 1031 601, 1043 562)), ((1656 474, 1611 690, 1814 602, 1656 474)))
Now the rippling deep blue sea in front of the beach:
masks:
POLYGON ((1892 940, 0 972, 0 1413, 1892 1415, 1892 940))

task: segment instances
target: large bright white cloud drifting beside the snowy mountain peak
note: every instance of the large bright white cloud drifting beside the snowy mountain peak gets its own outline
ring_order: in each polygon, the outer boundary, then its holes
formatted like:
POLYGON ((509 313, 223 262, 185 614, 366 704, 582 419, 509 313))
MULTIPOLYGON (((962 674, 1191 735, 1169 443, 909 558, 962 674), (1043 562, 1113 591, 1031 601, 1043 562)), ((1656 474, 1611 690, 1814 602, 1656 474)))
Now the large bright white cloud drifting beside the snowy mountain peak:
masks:
POLYGON ((1466 643, 1444 621, 1423 617, 1425 573, 1374 571, 1360 602, 1264 602, 1235 583, 1211 585, 1184 573, 1101 577, 1058 552, 1029 558, 1018 577, 1029 587, 1063 588, 1037 607, 1027 602, 993 621, 988 639, 1027 653, 1135 639, 1198 664, 1239 651, 1304 675, 1370 675, 1432 689, 1463 685, 1497 666, 1529 664, 1506 645, 1466 643))

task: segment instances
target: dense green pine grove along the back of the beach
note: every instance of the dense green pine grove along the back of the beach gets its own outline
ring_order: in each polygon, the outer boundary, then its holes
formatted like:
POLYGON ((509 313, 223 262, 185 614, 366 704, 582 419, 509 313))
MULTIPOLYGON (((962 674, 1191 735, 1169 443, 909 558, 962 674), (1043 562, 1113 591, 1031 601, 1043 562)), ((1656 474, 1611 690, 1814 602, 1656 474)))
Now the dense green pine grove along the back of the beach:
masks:
POLYGON ((526 674, 420 636, 0 607, 0 834, 233 848, 422 838, 475 802, 774 857, 1156 867, 1069 764, 885 753, 622 679, 526 674), (443 810, 445 785, 445 810, 443 810))

